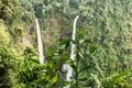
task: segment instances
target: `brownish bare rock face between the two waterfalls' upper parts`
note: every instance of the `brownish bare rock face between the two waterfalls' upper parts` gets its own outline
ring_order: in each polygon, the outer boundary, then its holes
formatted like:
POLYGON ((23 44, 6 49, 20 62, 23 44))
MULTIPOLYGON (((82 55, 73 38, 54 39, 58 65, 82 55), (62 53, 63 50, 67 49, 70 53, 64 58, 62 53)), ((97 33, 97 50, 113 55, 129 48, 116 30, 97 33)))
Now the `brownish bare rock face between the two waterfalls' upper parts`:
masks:
POLYGON ((56 14, 45 19, 44 26, 42 38, 46 47, 51 47, 59 41, 70 37, 69 29, 72 28, 72 22, 62 15, 56 14))

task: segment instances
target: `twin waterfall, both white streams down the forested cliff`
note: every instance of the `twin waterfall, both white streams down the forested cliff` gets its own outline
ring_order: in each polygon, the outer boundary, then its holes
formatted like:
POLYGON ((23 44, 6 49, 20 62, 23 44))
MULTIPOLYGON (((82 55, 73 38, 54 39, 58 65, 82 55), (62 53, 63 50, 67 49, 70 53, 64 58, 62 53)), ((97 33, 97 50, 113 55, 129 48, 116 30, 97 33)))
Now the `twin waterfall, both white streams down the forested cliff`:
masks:
MULTIPOLYGON (((77 20, 78 20, 79 15, 77 15, 74 20, 74 24, 73 24, 73 36, 72 40, 75 41, 76 40, 76 24, 77 24, 77 20)), ((43 55, 43 43, 42 43, 42 38, 41 38, 41 32, 40 32, 40 25, 38 25, 38 20, 35 19, 35 23, 36 23, 36 35, 37 35, 37 47, 38 47, 38 57, 40 57, 40 64, 44 64, 44 55, 43 55)), ((76 59, 76 44, 72 43, 72 50, 70 50, 70 58, 73 61, 76 59)), ((66 73, 66 81, 70 81, 70 79, 73 78, 74 72, 72 69, 72 67, 68 64, 65 64, 63 66, 63 69, 66 73)), ((65 88, 69 88, 70 86, 66 86, 65 88)))

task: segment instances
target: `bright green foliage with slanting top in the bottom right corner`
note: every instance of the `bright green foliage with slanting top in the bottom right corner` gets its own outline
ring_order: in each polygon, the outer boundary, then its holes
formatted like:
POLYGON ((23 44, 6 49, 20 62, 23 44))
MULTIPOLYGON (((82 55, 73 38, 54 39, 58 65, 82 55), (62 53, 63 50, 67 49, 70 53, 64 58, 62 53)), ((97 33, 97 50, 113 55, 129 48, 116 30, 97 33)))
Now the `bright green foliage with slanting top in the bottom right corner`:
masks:
POLYGON ((125 69, 121 74, 108 77, 102 80, 103 88, 131 88, 132 85, 129 82, 132 78, 132 68, 125 69))

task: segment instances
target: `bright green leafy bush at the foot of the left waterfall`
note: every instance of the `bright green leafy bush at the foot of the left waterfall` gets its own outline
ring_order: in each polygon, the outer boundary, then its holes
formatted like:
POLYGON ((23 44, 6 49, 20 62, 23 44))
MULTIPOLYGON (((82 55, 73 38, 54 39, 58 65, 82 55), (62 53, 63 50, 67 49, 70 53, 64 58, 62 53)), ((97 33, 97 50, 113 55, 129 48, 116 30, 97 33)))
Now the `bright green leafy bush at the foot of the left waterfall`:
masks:
MULTIPOLYGON (((36 52, 33 48, 24 51, 24 59, 21 62, 18 78, 23 87, 43 87, 51 88, 58 80, 58 68, 54 68, 55 61, 46 62, 40 65, 36 52)), ((59 65, 59 64, 58 64, 59 65)))

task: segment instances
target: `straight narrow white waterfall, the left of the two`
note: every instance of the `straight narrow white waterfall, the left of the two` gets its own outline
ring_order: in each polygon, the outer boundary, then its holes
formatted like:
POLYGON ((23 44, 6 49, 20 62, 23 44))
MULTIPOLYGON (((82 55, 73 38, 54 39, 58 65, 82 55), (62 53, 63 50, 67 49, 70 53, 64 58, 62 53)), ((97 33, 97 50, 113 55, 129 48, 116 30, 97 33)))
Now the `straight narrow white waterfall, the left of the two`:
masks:
POLYGON ((41 38, 41 32, 40 32, 40 25, 38 25, 37 19, 35 19, 35 23, 36 23, 36 35, 37 35, 37 48, 38 48, 40 64, 44 64, 43 43, 42 43, 42 38, 41 38))

